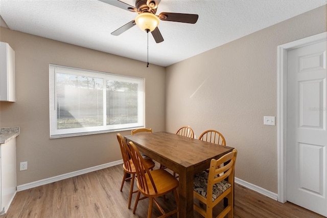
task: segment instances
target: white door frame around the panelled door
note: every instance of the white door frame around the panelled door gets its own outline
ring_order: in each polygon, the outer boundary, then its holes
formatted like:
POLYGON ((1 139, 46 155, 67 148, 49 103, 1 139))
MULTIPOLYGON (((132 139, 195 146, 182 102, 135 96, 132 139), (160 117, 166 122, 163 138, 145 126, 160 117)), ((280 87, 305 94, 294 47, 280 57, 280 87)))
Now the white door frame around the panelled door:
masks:
POLYGON ((327 32, 288 42, 277 47, 277 175, 278 201, 287 201, 287 52, 324 41, 327 32))

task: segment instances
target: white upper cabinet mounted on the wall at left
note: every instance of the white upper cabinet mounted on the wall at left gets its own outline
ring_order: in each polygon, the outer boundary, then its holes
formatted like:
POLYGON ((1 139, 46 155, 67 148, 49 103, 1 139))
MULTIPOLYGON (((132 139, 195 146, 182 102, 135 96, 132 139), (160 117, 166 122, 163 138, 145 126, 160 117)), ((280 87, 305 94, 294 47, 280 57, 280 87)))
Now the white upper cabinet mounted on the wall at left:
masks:
POLYGON ((0 101, 16 101, 15 52, 6 42, 0 42, 0 101))

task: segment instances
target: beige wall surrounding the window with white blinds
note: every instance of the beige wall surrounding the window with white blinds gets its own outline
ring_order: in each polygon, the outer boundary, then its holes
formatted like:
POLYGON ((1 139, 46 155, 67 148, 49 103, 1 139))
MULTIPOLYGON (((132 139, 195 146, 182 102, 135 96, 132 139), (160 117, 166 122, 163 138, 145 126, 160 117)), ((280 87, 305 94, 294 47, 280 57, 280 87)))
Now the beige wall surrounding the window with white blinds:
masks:
POLYGON ((20 127, 17 185, 122 159, 115 133, 49 139, 49 63, 145 78, 146 126, 165 130, 165 68, 7 28, 0 33, 15 51, 16 102, 0 103, 0 126, 20 127), (19 171, 22 161, 28 170, 19 171))

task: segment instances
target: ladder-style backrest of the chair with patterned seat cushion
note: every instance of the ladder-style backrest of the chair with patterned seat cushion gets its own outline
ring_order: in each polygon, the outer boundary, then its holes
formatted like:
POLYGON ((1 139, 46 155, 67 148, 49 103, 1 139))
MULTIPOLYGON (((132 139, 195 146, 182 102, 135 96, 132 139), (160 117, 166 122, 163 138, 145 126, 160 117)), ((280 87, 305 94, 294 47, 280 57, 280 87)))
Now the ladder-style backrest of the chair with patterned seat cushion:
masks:
POLYGON ((218 160, 212 159, 209 167, 207 199, 212 199, 213 185, 225 180, 228 177, 228 183, 234 185, 234 171, 237 150, 233 149, 218 160), (228 162, 228 163, 227 163, 228 162), (223 166, 224 163, 227 163, 223 166), (218 168, 220 166, 220 168, 218 168))

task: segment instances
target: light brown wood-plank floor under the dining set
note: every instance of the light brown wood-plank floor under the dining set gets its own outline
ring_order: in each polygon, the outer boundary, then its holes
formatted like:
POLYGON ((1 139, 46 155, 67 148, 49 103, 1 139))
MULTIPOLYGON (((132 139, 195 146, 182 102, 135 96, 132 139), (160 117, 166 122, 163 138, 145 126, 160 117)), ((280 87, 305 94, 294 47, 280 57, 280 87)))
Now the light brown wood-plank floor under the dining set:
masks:
MULTIPOLYGON (((149 200, 140 201, 135 215, 127 209, 130 182, 120 191, 122 165, 17 192, 7 214, 9 217, 147 217, 149 200)), ((135 185, 136 189, 136 185, 135 185)), ((134 206, 136 195, 133 195, 134 206)), ((165 211, 176 207, 172 193, 166 201, 159 198, 165 211)), ((215 208, 215 213, 222 205, 215 208)), ((160 215, 153 206, 152 217, 160 215)), ((172 217, 177 217, 176 215, 172 217)), ((194 217, 201 217, 194 212, 194 217)), ((257 192, 236 185, 234 217, 324 217, 292 203, 279 203, 257 192)), ((180 217, 183 218, 183 217, 180 217)))

